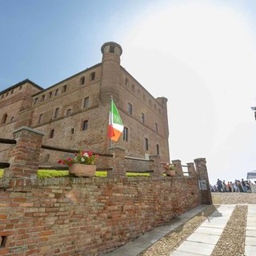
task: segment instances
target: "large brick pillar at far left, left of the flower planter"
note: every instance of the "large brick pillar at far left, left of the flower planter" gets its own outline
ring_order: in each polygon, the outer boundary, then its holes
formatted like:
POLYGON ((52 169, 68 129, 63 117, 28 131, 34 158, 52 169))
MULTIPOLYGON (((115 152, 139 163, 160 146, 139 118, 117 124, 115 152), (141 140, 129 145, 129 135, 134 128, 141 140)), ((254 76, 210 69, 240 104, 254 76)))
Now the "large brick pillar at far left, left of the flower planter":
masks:
POLYGON ((17 143, 10 148, 10 167, 4 170, 3 178, 36 178, 44 134, 22 126, 13 135, 17 143))

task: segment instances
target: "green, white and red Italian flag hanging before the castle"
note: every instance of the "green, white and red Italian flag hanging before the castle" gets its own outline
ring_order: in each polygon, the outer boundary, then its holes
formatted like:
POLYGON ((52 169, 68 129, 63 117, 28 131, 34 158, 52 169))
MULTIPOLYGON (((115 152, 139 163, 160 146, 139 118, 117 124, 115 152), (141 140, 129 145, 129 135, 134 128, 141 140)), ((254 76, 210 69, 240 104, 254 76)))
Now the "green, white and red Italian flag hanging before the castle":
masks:
POLYGON ((120 118, 117 107, 114 105, 113 98, 111 98, 108 138, 114 142, 117 142, 118 138, 122 134, 122 130, 122 119, 120 118))

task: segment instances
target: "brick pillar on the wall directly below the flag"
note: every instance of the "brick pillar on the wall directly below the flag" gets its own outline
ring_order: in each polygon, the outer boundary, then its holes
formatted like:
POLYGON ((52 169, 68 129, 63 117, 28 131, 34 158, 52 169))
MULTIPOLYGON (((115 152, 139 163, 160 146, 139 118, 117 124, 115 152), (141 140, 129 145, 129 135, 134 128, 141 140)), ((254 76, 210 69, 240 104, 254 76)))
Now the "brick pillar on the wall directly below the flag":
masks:
POLYGON ((112 161, 113 170, 107 172, 108 178, 126 178, 125 150, 116 146, 109 149, 110 154, 114 154, 112 161))

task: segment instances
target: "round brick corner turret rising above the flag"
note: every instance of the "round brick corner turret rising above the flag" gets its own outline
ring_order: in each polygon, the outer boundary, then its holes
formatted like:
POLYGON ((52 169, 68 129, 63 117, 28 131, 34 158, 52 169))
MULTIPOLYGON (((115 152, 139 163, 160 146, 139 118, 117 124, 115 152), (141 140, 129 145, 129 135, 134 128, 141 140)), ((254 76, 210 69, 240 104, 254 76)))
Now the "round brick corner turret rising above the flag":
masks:
POLYGON ((122 47, 116 42, 106 42, 102 45, 102 78, 99 98, 103 106, 109 104, 111 95, 114 102, 118 102, 121 54, 122 47))

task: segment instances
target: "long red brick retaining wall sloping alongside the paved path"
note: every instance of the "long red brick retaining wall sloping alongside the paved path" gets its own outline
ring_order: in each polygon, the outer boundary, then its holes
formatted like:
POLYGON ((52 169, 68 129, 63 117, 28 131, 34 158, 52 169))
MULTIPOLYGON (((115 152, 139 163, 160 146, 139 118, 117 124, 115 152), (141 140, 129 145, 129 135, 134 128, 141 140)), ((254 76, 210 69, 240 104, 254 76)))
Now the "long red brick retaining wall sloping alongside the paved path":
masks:
POLYGON ((0 180, 0 255, 98 255, 198 206, 195 178, 0 180))

